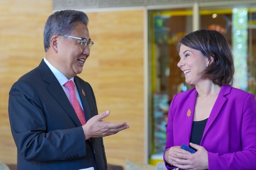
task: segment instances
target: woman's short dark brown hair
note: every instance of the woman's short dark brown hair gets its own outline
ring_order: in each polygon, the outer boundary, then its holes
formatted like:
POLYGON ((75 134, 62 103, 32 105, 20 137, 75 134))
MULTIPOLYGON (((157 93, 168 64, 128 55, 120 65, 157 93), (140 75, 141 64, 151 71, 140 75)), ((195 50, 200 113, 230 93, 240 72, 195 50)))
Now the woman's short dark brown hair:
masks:
POLYGON ((178 52, 181 44, 200 51, 209 59, 210 64, 204 70, 202 79, 212 80, 219 86, 233 83, 233 55, 226 38, 221 33, 213 30, 198 30, 180 40, 177 45, 178 52))

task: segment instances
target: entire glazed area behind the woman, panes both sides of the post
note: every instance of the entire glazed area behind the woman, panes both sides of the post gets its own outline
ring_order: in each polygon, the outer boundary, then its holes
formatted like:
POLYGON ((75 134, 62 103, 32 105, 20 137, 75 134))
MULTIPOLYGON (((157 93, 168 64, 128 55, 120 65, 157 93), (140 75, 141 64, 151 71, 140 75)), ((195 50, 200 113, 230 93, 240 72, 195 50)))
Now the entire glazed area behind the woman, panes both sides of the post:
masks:
POLYGON ((234 57, 233 87, 256 95, 256 2, 238 7, 206 6, 199 4, 199 16, 193 17, 191 8, 148 11, 148 96, 150 116, 148 129, 149 162, 163 161, 169 104, 175 94, 190 89, 177 67, 179 55, 176 45, 189 32, 193 32, 194 18, 200 29, 222 33, 234 57))

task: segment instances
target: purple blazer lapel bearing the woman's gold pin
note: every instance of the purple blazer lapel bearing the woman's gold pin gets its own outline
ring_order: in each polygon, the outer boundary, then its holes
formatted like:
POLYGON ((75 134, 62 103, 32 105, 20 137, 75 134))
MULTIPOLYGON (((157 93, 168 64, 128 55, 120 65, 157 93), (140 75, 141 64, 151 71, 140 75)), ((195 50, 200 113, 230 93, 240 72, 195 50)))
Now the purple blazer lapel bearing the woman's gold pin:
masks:
POLYGON ((187 132, 187 143, 189 144, 190 136, 191 136, 191 130, 192 130, 192 124, 193 124, 193 119, 195 115, 195 107, 196 107, 196 101, 197 101, 197 90, 194 89, 193 92, 188 97, 188 101, 186 102, 186 107, 185 111, 186 113, 186 132, 187 132))

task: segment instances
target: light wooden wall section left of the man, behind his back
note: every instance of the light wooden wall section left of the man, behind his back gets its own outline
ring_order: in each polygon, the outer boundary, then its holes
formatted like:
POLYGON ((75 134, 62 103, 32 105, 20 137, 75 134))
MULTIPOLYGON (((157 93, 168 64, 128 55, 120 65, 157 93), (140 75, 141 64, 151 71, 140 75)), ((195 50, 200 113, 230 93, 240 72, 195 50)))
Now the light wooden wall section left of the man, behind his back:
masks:
POLYGON ((52 0, 0 1, 0 161, 16 164, 8 98, 12 84, 44 58, 43 31, 52 0))

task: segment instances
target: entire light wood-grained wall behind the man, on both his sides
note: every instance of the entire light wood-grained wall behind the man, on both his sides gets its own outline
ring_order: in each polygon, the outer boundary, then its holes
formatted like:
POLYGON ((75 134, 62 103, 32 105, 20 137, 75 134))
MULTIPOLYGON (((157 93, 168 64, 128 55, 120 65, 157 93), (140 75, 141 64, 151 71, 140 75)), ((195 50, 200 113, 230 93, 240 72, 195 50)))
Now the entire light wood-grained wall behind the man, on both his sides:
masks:
MULTIPOLYGON (((8 118, 12 84, 44 58, 42 33, 52 0, 0 1, 0 161, 16 163, 8 118)), ((91 55, 82 74, 95 92, 106 121, 130 129, 104 137, 108 163, 144 162, 143 10, 88 13, 91 55)))

